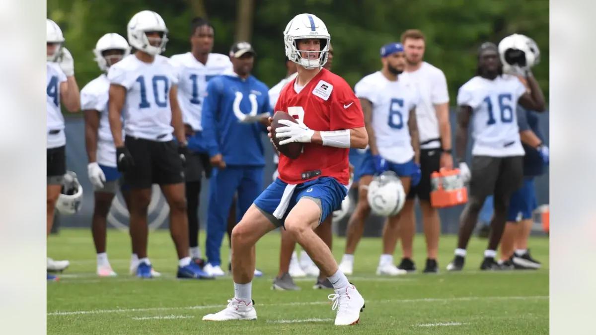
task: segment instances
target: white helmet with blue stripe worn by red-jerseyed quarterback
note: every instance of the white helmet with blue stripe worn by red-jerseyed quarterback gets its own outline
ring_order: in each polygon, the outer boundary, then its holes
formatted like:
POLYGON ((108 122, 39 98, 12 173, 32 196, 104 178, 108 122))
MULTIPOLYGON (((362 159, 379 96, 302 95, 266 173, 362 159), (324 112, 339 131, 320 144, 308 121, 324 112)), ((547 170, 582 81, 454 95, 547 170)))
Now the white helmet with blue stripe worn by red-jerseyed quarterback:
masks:
POLYGON ((305 69, 316 69, 327 63, 330 41, 331 36, 327 32, 325 23, 313 14, 298 14, 285 26, 285 55, 305 69), (302 58, 296 45, 296 41, 299 39, 311 38, 321 39, 321 51, 311 51, 319 52, 319 57, 313 60, 302 58))

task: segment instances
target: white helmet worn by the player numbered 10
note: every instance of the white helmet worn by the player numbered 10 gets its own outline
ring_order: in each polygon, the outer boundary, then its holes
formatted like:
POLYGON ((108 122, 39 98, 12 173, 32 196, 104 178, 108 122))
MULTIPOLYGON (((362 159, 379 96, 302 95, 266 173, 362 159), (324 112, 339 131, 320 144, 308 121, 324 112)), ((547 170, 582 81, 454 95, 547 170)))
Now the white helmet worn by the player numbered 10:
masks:
POLYGON ((136 13, 126 27, 128 42, 135 49, 147 52, 150 55, 159 55, 166 50, 167 28, 163 18, 154 11, 140 11, 136 13), (146 32, 162 32, 163 36, 159 46, 151 45, 146 32))

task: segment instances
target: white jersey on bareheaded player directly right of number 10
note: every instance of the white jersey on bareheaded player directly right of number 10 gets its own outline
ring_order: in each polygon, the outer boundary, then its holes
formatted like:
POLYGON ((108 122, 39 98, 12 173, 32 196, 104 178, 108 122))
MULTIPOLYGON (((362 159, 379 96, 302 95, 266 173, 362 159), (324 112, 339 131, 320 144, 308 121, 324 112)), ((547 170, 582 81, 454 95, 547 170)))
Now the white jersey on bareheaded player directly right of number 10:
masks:
POLYGON ((203 64, 191 52, 173 55, 170 62, 178 72, 178 104, 182 109, 182 119, 194 131, 203 131, 201 108, 207 95, 207 82, 226 70, 232 70, 232 62, 226 55, 209 54, 207 63, 203 64))

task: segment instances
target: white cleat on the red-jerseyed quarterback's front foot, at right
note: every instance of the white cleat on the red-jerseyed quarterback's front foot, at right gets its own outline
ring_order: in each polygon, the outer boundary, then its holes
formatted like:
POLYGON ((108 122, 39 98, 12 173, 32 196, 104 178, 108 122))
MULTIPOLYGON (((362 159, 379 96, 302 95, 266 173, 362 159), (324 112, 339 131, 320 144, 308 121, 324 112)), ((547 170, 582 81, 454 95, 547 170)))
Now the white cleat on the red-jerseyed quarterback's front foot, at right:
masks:
POLYGON ((360 320, 360 312, 364 310, 364 298, 349 284, 345 289, 336 290, 336 293, 327 296, 333 303, 331 309, 337 309, 335 325, 353 325, 360 320))

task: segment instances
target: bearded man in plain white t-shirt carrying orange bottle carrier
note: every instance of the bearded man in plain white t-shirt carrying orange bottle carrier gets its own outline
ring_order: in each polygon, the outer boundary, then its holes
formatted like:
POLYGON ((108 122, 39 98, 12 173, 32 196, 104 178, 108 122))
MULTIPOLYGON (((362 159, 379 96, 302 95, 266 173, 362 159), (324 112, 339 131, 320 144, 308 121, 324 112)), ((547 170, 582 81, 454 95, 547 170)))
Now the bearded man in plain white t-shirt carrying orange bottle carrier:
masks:
POLYGON ((424 272, 437 272, 439 252, 439 212, 430 204, 430 174, 440 168, 452 169, 451 125, 449 124, 449 94, 443 72, 423 61, 426 40, 417 29, 402 33, 401 41, 406 52, 406 69, 401 75, 411 82, 420 94, 420 105, 416 108, 418 134, 420 136, 420 184, 412 187, 402 209, 400 235, 403 258, 398 268, 415 271, 412 247, 416 231, 414 215, 415 198, 423 213, 424 235, 426 235, 427 259, 424 272))

